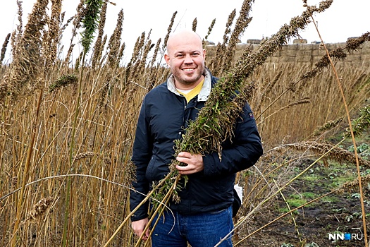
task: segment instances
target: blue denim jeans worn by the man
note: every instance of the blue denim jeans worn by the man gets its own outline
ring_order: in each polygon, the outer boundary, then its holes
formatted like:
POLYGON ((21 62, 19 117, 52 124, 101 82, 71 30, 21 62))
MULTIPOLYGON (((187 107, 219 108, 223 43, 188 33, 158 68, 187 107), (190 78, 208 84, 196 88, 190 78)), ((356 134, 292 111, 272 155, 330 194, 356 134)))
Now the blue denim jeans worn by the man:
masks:
MULTIPOLYGON (((232 207, 197 215, 181 215, 178 212, 172 214, 166 210, 152 232, 152 247, 187 247, 187 242, 192 247, 214 247, 233 231, 232 216, 232 207)), ((230 234, 220 246, 233 246, 232 236, 230 234)))

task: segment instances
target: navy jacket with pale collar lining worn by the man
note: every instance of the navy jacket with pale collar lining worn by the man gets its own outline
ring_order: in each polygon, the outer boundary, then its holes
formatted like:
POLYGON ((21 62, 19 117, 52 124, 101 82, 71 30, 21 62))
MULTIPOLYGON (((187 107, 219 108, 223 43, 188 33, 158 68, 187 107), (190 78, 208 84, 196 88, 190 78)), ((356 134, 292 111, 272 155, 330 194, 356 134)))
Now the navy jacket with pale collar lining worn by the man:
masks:
MULTIPOLYGON (((174 87, 173 77, 154 88, 144 97, 137 122, 132 162, 136 166, 135 190, 130 193, 130 210, 145 198, 153 181, 168 174, 168 164, 174 158, 173 140, 181 138, 190 119, 209 96, 217 78, 205 71, 204 85, 197 97, 186 102, 174 87), (141 194, 142 193, 142 194, 141 194)), ((262 146, 252 110, 245 104, 244 112, 235 124, 235 136, 223 143, 222 159, 214 152, 203 157, 204 170, 189 175, 180 192, 180 203, 171 203, 171 210, 183 214, 214 212, 233 204, 235 173, 252 167, 262 155, 262 146)), ((148 203, 132 216, 132 221, 147 217, 148 203)))

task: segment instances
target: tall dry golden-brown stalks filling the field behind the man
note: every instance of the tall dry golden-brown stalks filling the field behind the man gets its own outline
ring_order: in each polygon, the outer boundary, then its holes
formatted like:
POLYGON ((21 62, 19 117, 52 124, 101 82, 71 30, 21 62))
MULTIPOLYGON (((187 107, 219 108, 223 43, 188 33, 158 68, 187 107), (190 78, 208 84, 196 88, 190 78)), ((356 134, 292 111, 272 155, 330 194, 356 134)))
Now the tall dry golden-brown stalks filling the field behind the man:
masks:
MULTIPOLYGON (((120 63, 123 52, 127 53, 121 40, 123 12, 118 13, 117 28, 110 37, 104 35, 101 21, 92 57, 81 61, 80 56, 73 65, 70 57, 85 15, 83 1, 76 15, 64 23, 61 1, 52 1, 51 16, 46 13, 47 2, 37 1, 25 30, 13 32, 13 60, 0 68, 0 246, 104 246, 130 213, 130 152, 136 119, 144 95, 168 76, 168 68, 160 64, 176 13, 163 42, 152 42, 150 32, 143 32, 137 37, 132 59, 124 65, 120 63), (59 59, 57 48, 62 44, 58 37, 67 25, 73 25, 72 39, 68 54, 59 59)), ((238 176, 238 181, 245 184, 246 195, 246 210, 240 218, 266 207, 266 198, 289 183, 284 174, 299 160, 286 158, 292 148, 318 156, 327 152, 328 157, 354 162, 347 152, 321 141, 347 127, 330 69, 304 61, 299 66, 296 62, 274 62, 273 54, 266 52, 275 44, 273 39, 261 44, 257 52, 251 47, 243 49, 243 58, 260 59, 251 67, 247 60, 245 64, 230 60, 238 52, 236 42, 250 21, 246 3, 234 30, 236 13, 230 13, 223 44, 216 47, 218 56, 209 56, 206 61, 218 76, 233 71, 234 76, 242 78, 242 85, 254 82, 254 89, 247 95, 266 154, 254 169, 238 176), (336 124, 326 125, 330 121, 336 124), (315 132, 318 126, 326 128, 315 132), (271 163, 278 165, 272 168, 271 163)), ((107 7, 109 3, 102 7, 101 20, 107 7)), ((18 13, 22 15, 21 8, 18 13)), ((195 20, 194 30, 196 25, 195 20)), ((343 52, 347 56, 356 53, 369 41, 369 36, 363 38, 363 42, 347 43, 343 52)), ((8 40, 6 37, 3 50, 8 40)), ((284 43, 279 40, 278 45, 284 43)), ((206 49, 211 54, 212 48, 206 49)), ((362 107, 370 95, 369 67, 356 68, 347 57, 340 59, 336 66, 350 112, 356 118, 359 109, 368 109, 362 107)), ((368 119, 369 115, 362 111, 362 117, 368 119)), ((127 222, 111 246, 134 246, 136 242, 127 222)))

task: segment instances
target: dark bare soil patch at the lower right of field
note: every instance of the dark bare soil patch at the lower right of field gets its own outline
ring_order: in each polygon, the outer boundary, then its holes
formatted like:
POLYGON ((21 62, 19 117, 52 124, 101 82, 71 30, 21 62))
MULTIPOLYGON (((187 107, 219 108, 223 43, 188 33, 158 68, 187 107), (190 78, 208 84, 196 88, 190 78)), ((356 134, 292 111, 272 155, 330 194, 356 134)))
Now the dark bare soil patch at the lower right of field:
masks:
MULTIPOLYGON (((304 167, 302 167, 304 169, 304 167)), ((345 169, 344 169, 345 170, 345 169)), ((290 188, 284 190, 285 199, 290 194, 314 193, 314 195, 323 195, 331 191, 335 177, 346 176, 347 171, 339 170, 333 173, 333 170, 327 167, 319 167, 312 171, 315 174, 314 181, 298 179, 290 188)), ((351 167, 351 174, 355 176, 355 169, 351 167)), ((308 172, 308 171, 307 171, 308 172)), ((309 176, 309 174, 307 175, 309 176)), ((370 202, 366 198, 370 198, 369 192, 364 190, 365 213, 370 212, 370 202)), ((317 197, 317 196, 316 196, 317 197)), ((258 212, 252 220, 247 223, 244 231, 249 234, 259 227, 271 222, 272 219, 282 215, 282 208, 286 208, 286 203, 283 198, 277 200, 268 209, 263 212, 258 212)), ((294 208, 294 207, 292 207, 294 208)), ((286 212, 286 211, 285 211, 286 212)), ((268 227, 252 235, 247 240, 243 241, 240 246, 269 246, 269 247, 325 247, 325 246, 365 246, 364 243, 364 228, 362 222, 362 207, 359 199, 359 193, 335 193, 322 198, 316 203, 307 205, 293 213, 294 220, 291 215, 287 215, 278 221, 273 222, 268 227), (299 232, 299 234, 298 234, 299 232), (357 238, 362 240, 329 240, 329 234, 350 233, 356 234, 357 238)), ((368 215, 369 217, 369 215, 368 215)), ((369 229, 369 221, 366 217, 366 229, 369 229)), ((369 230, 366 230, 367 236, 370 236, 369 230)), ((237 234, 238 235, 238 234, 237 234)), ((245 232, 240 234, 240 238, 245 235, 245 232)), ((238 236, 236 236, 238 239, 238 236)))

